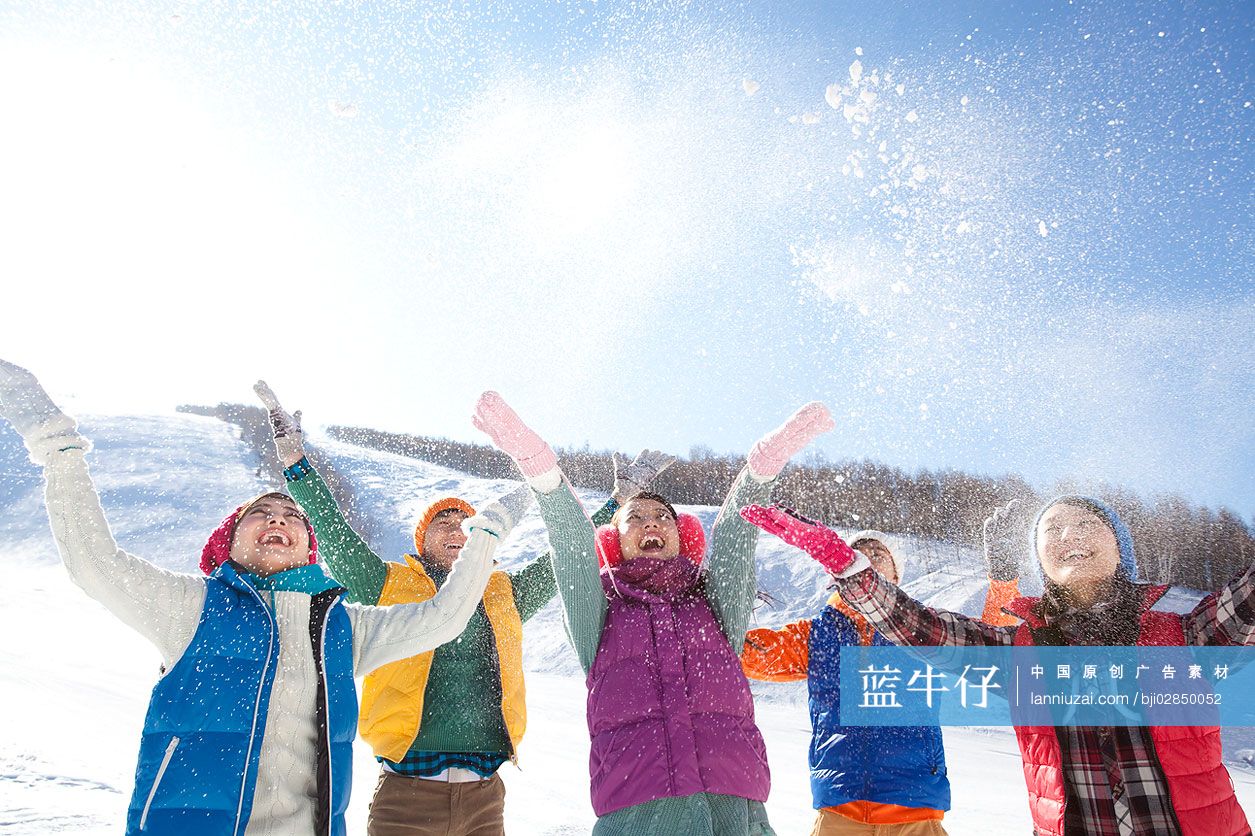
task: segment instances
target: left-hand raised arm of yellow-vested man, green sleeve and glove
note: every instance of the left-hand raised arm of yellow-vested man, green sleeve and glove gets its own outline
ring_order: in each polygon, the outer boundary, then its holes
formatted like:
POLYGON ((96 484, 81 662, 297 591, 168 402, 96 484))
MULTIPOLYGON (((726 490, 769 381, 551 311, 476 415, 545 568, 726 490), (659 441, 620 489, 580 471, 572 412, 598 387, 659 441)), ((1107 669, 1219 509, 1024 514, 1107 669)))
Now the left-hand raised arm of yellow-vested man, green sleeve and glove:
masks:
POLYGON ((328 571, 349 590, 349 600, 354 604, 378 604, 388 579, 388 565, 344 518, 326 482, 305 458, 300 410, 292 414, 284 409, 265 380, 259 380, 254 392, 270 410, 275 452, 284 466, 287 488, 310 515, 328 571))

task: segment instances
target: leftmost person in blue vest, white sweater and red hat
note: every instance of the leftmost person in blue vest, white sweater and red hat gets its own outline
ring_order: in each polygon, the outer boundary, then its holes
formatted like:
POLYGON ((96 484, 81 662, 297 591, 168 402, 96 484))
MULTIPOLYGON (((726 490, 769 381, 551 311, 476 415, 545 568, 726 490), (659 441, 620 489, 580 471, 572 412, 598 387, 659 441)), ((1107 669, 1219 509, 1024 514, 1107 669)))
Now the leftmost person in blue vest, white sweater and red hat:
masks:
POLYGON ((435 649, 467 626, 523 486, 463 525, 444 586, 422 604, 344 603, 304 511, 264 493, 227 515, 173 572, 118 547, 88 472, 88 441, 25 369, 0 360, 0 417, 44 467, 70 577, 162 656, 144 719, 128 835, 343 836, 354 677, 435 649))

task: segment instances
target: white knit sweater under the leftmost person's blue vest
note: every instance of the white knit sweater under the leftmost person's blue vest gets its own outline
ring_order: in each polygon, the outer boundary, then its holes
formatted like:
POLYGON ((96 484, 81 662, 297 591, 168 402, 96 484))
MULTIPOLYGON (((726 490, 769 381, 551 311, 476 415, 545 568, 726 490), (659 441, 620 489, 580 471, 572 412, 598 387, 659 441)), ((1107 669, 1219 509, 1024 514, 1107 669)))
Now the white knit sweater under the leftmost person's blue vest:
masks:
MULTIPOLYGON (((169 670, 196 634, 206 579, 159 569, 119 549, 83 457, 82 449, 72 448, 51 453, 45 464, 48 517, 61 560, 83 591, 157 646, 169 670)), ((498 539, 510 532, 507 513, 487 511, 472 518, 467 545, 435 598, 395 606, 344 605, 353 625, 354 675, 433 650, 462 634, 492 574, 498 539)), ((245 832, 310 836, 318 797, 311 599, 305 592, 262 595, 275 610, 280 651, 245 832)))

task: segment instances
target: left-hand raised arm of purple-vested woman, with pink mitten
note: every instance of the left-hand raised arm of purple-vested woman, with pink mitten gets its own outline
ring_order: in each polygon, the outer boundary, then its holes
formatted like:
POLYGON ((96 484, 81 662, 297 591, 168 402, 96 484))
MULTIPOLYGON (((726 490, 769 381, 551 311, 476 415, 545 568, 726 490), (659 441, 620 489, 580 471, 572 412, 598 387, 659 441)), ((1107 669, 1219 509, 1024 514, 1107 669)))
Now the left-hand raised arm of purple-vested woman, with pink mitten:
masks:
POLYGON ((597 569, 592 521, 576 500, 557 467, 557 456, 518 418, 496 392, 486 392, 476 404, 474 426, 508 454, 536 491, 541 518, 553 550, 553 575, 562 600, 566 633, 587 672, 601 644, 606 623, 606 596, 597 569))

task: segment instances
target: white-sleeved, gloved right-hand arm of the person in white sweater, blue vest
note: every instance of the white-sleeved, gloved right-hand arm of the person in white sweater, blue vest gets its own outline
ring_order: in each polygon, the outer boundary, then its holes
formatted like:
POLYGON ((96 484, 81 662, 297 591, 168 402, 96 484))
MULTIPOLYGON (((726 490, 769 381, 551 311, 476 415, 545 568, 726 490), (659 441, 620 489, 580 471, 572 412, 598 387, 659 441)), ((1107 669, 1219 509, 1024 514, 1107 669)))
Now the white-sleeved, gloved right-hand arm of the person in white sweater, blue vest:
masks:
POLYGON ((488 585, 498 544, 510 535, 531 501, 531 490, 520 486, 463 521, 467 544, 434 598, 422 604, 392 606, 350 604, 356 675, 434 650, 462 635, 488 585))

